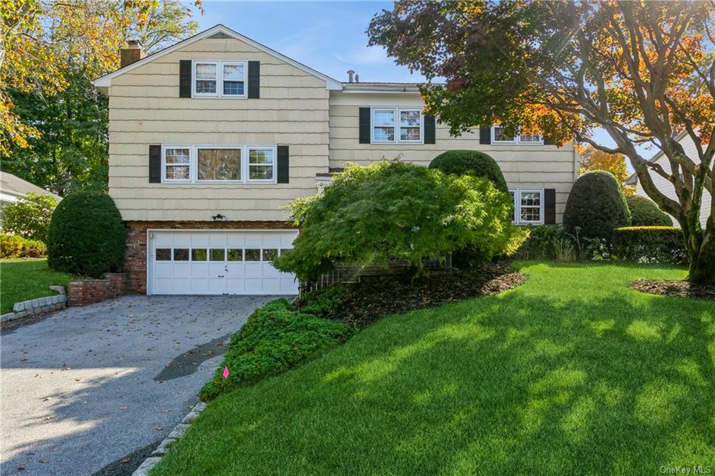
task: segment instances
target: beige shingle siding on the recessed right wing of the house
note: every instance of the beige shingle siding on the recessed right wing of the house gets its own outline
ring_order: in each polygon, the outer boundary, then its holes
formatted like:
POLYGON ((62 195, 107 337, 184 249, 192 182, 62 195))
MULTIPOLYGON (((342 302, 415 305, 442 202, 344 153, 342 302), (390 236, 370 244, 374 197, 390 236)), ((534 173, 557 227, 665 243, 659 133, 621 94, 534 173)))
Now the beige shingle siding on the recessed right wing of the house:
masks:
POLYGON ((347 162, 367 165, 379 159, 395 159, 427 166, 441 152, 473 149, 488 153, 498 162, 510 188, 556 189, 556 222, 561 223, 568 192, 578 174, 578 154, 572 144, 556 146, 483 145, 479 131, 450 137, 449 128, 437 123, 435 144, 359 144, 360 106, 410 106, 422 104, 418 94, 333 93, 330 104, 330 167, 347 162), (347 103, 347 104, 346 104, 347 103), (390 104, 394 103, 394 104, 390 104))

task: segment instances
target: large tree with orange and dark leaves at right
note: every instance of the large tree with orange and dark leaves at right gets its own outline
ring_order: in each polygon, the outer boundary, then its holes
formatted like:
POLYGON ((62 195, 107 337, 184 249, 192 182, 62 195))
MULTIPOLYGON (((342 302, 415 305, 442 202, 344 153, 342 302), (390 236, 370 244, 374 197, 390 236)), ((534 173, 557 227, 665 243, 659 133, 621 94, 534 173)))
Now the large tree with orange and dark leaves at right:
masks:
POLYGON ((715 192, 715 1, 404 0, 375 15, 368 35, 428 79, 425 107, 453 134, 502 124, 628 157, 681 224, 689 279, 715 283, 714 209, 699 221, 704 189, 715 192), (615 147, 593 138, 599 128, 615 147), (683 132, 695 154, 676 141, 683 132), (660 149, 672 172, 638 144, 660 149))

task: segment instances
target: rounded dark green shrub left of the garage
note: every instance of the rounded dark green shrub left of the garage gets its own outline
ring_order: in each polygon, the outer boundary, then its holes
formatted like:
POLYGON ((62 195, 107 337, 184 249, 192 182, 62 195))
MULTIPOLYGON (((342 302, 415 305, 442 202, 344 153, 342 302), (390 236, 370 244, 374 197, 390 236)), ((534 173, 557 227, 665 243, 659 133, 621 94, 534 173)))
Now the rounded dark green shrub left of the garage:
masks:
POLYGON ((57 271, 101 277, 122 271, 124 224, 103 192, 76 192, 59 202, 47 239, 47 264, 57 271))

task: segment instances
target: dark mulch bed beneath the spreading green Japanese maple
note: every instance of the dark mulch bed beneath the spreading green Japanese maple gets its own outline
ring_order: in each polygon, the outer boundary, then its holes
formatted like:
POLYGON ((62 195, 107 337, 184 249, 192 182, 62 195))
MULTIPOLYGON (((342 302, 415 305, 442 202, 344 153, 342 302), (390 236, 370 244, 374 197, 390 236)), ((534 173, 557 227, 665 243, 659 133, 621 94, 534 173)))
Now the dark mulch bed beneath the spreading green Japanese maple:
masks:
POLYGON ((361 282, 347 285, 347 298, 333 318, 365 327, 389 314, 498 294, 518 287, 525 279, 509 262, 431 271, 416 279, 400 275, 363 277, 361 282))

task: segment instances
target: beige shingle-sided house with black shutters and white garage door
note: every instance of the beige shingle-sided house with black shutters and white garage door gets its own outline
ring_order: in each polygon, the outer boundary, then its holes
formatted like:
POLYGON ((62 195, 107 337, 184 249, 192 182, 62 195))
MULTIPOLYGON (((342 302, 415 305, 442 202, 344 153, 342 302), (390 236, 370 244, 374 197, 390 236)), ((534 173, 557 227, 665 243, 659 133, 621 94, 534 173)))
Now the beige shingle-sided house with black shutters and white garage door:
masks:
POLYGON ((150 56, 140 48, 94 81, 109 96, 109 194, 134 292, 295 293, 270 264, 298 233, 285 206, 347 162, 488 152, 522 224, 561 222, 578 176, 571 144, 498 128, 450 137, 422 114, 416 84, 336 81, 222 25, 150 56))

